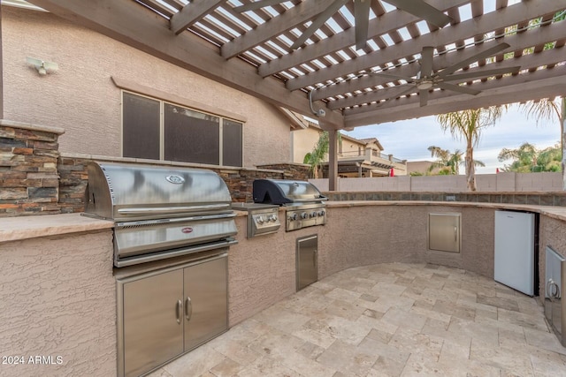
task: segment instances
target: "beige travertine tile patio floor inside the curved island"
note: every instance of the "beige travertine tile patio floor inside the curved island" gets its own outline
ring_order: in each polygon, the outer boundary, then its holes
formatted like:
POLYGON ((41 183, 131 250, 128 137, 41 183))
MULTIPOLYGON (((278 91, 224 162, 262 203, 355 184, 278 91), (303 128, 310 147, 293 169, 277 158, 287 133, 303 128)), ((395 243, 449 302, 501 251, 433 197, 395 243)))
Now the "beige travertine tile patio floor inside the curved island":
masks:
POLYGON ((379 264, 326 277, 152 377, 566 376, 541 305, 455 268, 379 264))

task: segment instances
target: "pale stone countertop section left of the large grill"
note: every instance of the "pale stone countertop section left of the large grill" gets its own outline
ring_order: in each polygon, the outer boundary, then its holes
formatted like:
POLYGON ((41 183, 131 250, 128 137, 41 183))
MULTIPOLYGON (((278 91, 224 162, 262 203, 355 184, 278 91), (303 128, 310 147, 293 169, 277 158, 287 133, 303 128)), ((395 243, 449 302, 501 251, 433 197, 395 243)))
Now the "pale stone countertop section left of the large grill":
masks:
POLYGON ((114 222, 80 214, 2 217, 0 218, 0 245, 4 242, 28 238, 90 232, 113 227, 114 222))

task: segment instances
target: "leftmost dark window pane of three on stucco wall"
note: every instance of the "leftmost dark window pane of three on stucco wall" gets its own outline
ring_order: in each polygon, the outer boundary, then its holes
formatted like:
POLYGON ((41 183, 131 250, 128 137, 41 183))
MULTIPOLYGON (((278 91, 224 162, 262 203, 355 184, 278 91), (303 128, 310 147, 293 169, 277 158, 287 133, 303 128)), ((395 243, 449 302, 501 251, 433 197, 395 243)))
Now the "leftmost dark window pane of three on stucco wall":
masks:
POLYGON ((123 156, 159 160, 159 102, 129 93, 123 97, 123 156))

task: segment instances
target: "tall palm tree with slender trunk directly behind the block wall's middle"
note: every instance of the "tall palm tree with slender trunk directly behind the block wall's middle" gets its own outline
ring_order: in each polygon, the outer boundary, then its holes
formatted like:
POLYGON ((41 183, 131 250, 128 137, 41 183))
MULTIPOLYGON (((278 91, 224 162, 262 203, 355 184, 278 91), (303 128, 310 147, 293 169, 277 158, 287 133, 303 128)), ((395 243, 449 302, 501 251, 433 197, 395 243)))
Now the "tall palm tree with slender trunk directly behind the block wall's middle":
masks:
POLYGON ((450 131, 455 139, 465 139, 466 155, 464 158, 466 182, 468 190, 476 191, 476 170, 474 164, 474 147, 478 146, 481 132, 487 126, 493 125, 501 118, 503 108, 493 106, 486 109, 467 109, 437 117, 442 130, 450 131))

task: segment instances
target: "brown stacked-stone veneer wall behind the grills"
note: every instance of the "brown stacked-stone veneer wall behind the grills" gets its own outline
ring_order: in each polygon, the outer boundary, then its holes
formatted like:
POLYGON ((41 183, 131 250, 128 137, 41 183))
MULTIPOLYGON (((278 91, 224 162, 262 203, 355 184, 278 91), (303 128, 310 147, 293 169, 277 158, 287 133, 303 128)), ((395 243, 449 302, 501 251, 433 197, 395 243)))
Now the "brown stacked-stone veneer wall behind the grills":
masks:
MULTIPOLYGON (((0 119, 0 217, 67 214, 84 211, 88 184, 87 165, 91 161, 139 161, 131 158, 60 155, 57 139, 65 131, 0 119)), ((174 166, 174 163, 173 163, 174 166)), ((257 178, 301 179, 308 166, 293 163, 264 165, 258 169, 217 168, 179 163, 179 166, 206 168, 222 177, 233 201, 253 202, 252 184, 257 178)))

